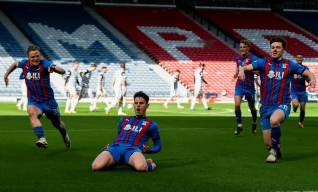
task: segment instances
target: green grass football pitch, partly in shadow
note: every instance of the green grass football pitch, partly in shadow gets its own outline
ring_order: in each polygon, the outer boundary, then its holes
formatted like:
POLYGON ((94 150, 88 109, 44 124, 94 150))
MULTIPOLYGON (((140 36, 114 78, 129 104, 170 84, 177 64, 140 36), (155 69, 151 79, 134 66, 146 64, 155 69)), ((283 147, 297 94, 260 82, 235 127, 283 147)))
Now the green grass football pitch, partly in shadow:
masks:
MULTIPOLYGON (((159 125, 162 150, 145 155, 157 164, 153 172, 139 173, 126 166, 93 172, 90 164, 117 134, 117 109, 107 116, 104 103, 89 112, 79 103, 76 114, 62 120, 71 138, 66 149, 60 133, 43 116, 41 122, 49 148, 37 148, 26 111, 16 103, 0 103, 0 192, 275 192, 318 190, 318 103, 307 103, 305 128, 298 128, 299 110, 291 111, 282 127, 282 159, 266 163, 269 151, 258 130, 251 132, 251 114, 243 103, 243 131, 237 128, 234 103, 213 103, 212 110, 197 111, 190 104, 177 109, 152 103, 147 112, 159 125)), ((133 109, 123 112, 134 115, 133 109)), ((149 140, 148 145, 153 146, 149 140)))

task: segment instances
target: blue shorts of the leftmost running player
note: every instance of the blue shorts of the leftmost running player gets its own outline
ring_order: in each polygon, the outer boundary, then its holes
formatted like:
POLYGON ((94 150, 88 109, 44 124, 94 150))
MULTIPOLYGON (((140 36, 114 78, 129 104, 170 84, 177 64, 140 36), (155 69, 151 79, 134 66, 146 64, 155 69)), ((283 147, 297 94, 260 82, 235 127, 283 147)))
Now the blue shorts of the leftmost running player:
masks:
POLYGON ((59 104, 56 102, 55 99, 45 100, 41 102, 29 101, 28 106, 29 105, 34 105, 38 107, 45 114, 45 116, 47 116, 48 119, 54 117, 61 117, 59 104))

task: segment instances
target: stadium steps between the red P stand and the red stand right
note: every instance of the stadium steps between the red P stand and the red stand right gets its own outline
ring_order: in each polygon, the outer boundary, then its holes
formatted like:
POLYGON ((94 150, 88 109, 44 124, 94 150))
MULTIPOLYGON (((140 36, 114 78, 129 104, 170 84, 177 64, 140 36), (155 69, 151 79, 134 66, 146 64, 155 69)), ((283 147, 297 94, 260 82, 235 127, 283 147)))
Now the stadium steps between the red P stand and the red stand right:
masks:
POLYGON ((193 22, 195 22, 197 25, 199 25, 204 30, 208 31, 211 35, 213 35, 215 38, 219 39, 221 42, 223 42, 225 45, 230 47, 232 50, 234 50, 235 52, 240 54, 239 44, 236 43, 238 40, 233 40, 232 38, 230 38, 229 36, 226 36, 224 33, 220 32, 220 31, 219 31, 219 35, 218 35, 218 32, 217 32, 218 29, 216 26, 210 25, 210 30, 209 30, 208 23, 204 19, 202 19, 202 24, 201 24, 201 21, 200 21, 201 17, 198 15, 195 15, 195 19, 193 19, 193 17, 192 17, 193 13, 190 10, 188 10, 187 13, 185 10, 179 10, 179 12, 181 12, 187 18, 191 19, 193 22), (234 48, 234 43, 236 43, 236 48, 234 48))

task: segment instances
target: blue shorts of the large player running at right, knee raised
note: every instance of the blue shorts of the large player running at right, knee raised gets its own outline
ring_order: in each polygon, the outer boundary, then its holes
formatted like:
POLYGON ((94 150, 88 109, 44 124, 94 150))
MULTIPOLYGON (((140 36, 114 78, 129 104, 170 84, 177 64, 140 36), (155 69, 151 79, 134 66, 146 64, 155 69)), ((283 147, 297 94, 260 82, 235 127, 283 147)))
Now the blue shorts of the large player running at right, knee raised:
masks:
POLYGON ((272 114, 275 112, 275 110, 277 109, 281 109, 282 111, 284 111, 285 113, 284 121, 285 121, 290 114, 290 104, 280 104, 280 105, 274 105, 274 106, 262 105, 259 108, 260 124, 262 125, 263 130, 267 130, 271 128, 269 119, 272 116, 272 114))

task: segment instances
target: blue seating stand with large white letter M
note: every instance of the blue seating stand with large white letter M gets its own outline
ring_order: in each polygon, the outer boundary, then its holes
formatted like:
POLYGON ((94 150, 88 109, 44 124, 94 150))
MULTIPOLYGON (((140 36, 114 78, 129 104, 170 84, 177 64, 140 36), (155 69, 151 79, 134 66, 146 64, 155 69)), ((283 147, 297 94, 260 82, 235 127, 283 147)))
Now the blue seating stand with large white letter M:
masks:
MULTIPOLYGON (((129 86, 127 96, 133 96, 141 88, 150 96, 169 95, 169 84, 81 5, 1 2, 0 6, 55 64, 68 70, 72 68, 72 62, 77 60, 81 63, 79 67, 81 70, 88 68, 90 62, 95 62, 99 72, 101 69, 99 64, 105 63, 104 66, 108 68, 106 74, 108 91, 111 88, 114 70, 119 69, 121 62, 126 62, 129 86), (29 14, 32 12, 41 16, 35 17, 29 14)), ((97 75, 96 72, 92 74, 90 81, 93 92, 96 91, 97 75)))

